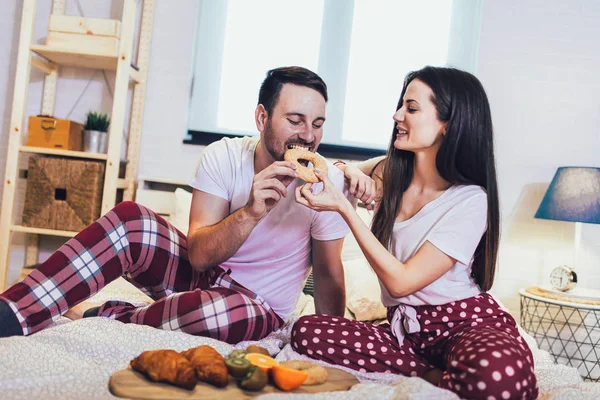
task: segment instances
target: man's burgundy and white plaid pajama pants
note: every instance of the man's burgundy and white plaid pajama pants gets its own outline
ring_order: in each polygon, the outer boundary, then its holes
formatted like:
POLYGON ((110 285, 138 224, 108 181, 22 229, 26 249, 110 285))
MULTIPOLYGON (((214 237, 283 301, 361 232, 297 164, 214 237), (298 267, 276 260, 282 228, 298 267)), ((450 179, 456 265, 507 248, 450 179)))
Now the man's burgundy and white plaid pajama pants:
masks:
POLYGON ((259 340, 279 329, 283 320, 228 272, 220 267, 194 270, 185 235, 151 210, 123 202, 67 241, 0 300, 29 335, 123 276, 155 302, 135 307, 111 301, 100 307, 99 316, 228 343, 259 340))

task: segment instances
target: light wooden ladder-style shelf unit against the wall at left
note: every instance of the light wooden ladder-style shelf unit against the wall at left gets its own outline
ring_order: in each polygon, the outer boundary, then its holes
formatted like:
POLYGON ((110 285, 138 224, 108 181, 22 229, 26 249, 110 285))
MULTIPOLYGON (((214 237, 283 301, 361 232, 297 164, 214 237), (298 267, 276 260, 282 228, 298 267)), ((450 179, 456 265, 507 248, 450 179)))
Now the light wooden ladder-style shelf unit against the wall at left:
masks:
MULTIPOLYGON (((67 49, 59 46, 34 44, 33 34, 37 0, 23 0, 11 122, 8 132, 4 192, 2 194, 2 208, 0 210, 0 291, 3 291, 8 283, 9 255, 13 233, 26 234, 26 266, 35 265, 38 262, 40 235, 73 237, 77 234, 77 232, 66 230, 33 228, 14 223, 15 217, 22 211, 15 209, 18 165, 22 155, 32 153, 104 161, 106 164, 101 214, 105 214, 115 206, 117 189, 123 190, 124 200, 133 200, 135 196, 138 152, 144 114, 144 98, 146 95, 145 82, 150 59, 150 42, 152 39, 155 8, 154 0, 142 0, 138 50, 137 54, 134 54, 133 44, 134 36, 136 35, 134 31, 138 3, 140 3, 138 0, 123 0, 118 51, 108 52, 94 49, 93 47, 90 48, 90 46, 67 49), (27 91, 32 67, 45 73, 40 112, 43 115, 54 114, 57 80, 62 67, 116 71, 111 125, 108 132, 108 152, 106 154, 22 145, 25 135, 23 127, 26 118, 27 91), (134 86, 129 118, 127 166, 125 178, 119 178, 119 168, 122 161, 122 133, 125 128, 130 80, 134 82, 134 86)), ((64 12, 65 0, 53 0, 52 16, 63 16, 64 12)), ((64 17, 60 18, 66 20, 64 17)), ((21 278, 31 270, 31 268, 22 268, 21 278)))

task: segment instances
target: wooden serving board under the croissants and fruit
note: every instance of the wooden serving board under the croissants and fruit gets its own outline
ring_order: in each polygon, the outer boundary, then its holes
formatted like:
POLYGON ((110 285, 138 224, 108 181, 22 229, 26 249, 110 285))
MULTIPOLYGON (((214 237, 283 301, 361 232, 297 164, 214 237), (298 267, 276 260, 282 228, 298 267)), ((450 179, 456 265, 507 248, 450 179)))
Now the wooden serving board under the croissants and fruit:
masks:
MULTIPOLYGON (((348 372, 325 368, 327 381, 320 385, 300 386, 290 393, 319 393, 348 390, 358 383, 358 380, 348 372)), ((131 368, 117 371, 108 381, 110 392, 118 397, 130 399, 250 399, 266 393, 285 393, 271 384, 260 392, 242 390, 236 381, 230 377, 229 386, 217 388, 204 382, 199 382, 194 390, 181 389, 167 383, 157 383, 147 380, 142 374, 131 368)))

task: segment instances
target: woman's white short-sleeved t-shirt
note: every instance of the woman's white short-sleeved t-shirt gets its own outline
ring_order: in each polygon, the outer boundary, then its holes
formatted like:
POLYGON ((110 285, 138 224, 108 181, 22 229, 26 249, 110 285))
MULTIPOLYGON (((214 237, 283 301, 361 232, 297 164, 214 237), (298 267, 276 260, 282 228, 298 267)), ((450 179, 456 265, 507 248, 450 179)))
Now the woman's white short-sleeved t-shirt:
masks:
POLYGON ((486 227, 487 194, 476 185, 451 186, 412 218, 396 222, 390 251, 398 260, 408 261, 429 241, 456 263, 438 280, 405 297, 392 297, 380 282, 383 304, 439 305, 478 295, 471 266, 486 227))

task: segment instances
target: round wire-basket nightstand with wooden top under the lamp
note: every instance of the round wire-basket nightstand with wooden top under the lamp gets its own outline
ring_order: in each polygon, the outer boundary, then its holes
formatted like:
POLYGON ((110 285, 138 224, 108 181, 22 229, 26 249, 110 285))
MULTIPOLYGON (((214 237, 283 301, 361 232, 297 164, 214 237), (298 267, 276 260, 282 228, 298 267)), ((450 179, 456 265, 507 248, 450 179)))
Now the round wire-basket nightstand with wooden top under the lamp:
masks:
POLYGON ((519 290, 521 327, 556 362, 577 368, 587 381, 600 382, 600 305, 549 298, 528 289, 519 290))

